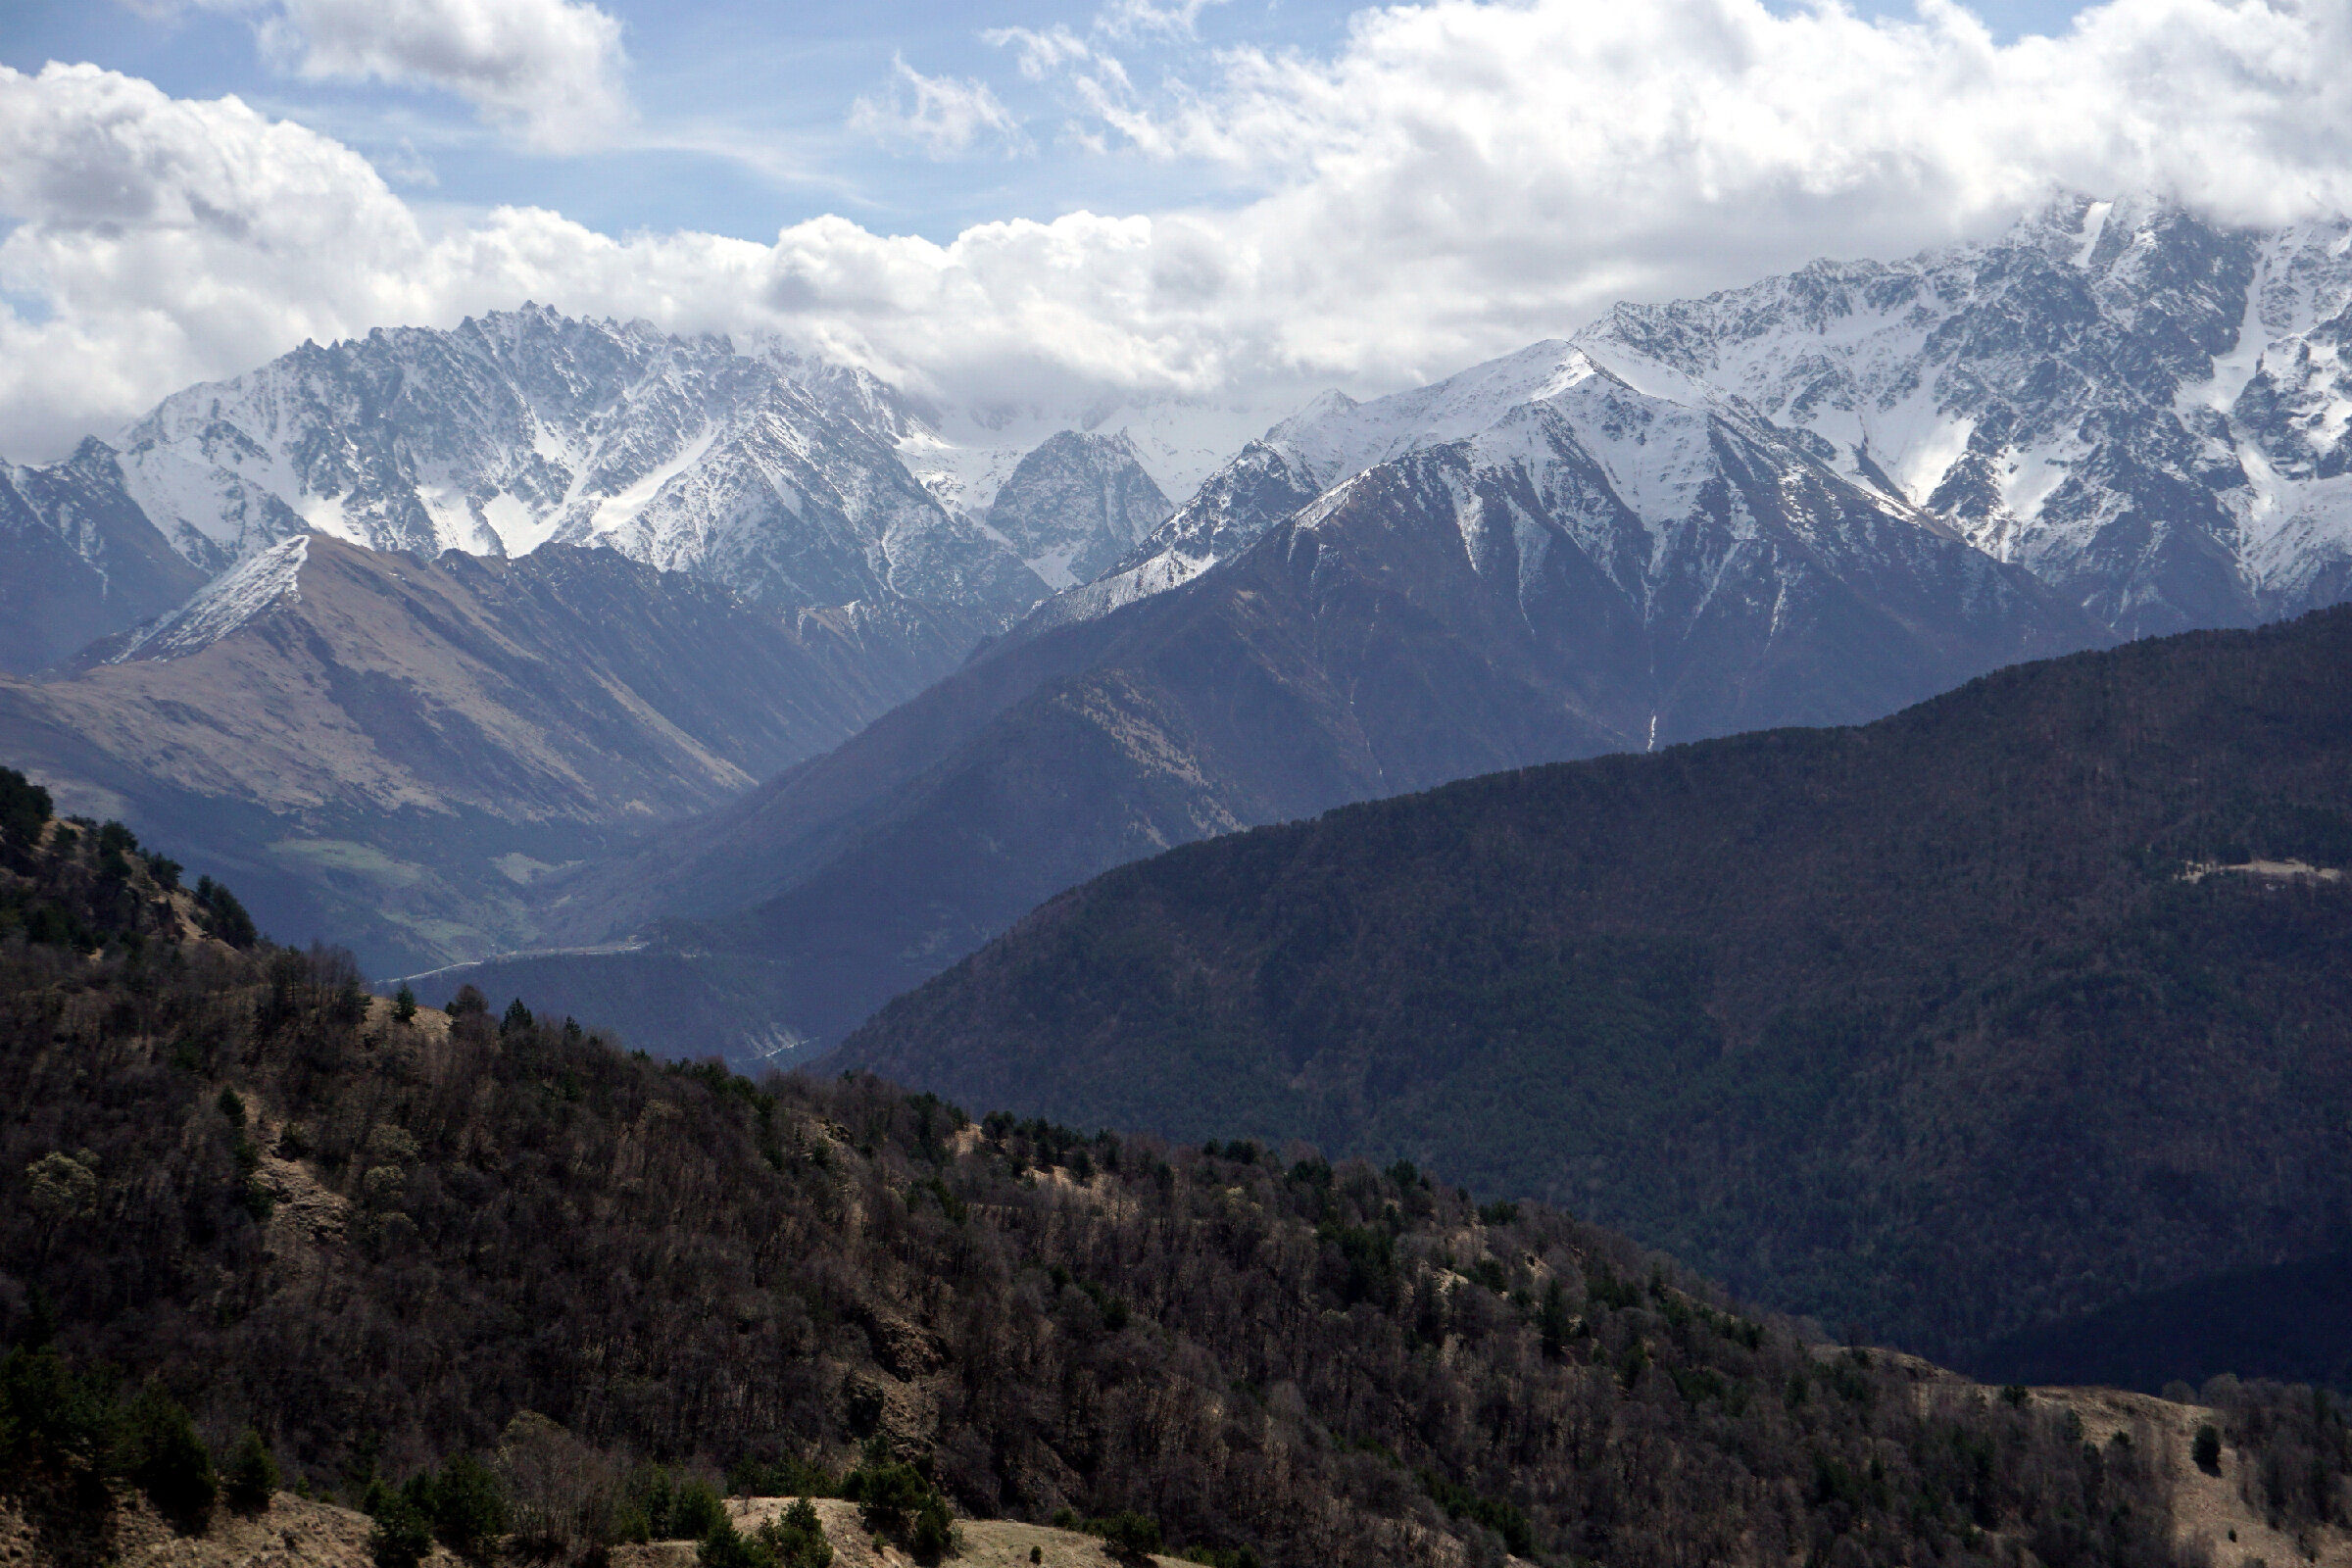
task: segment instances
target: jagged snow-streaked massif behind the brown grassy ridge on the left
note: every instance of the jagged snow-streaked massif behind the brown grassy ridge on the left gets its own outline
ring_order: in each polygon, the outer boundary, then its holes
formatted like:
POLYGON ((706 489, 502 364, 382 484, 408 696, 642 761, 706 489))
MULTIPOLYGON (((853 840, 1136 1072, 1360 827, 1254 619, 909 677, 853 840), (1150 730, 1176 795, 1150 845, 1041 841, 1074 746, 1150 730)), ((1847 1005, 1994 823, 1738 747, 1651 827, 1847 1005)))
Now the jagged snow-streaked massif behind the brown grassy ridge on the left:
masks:
POLYGON ((122 470, 207 571, 325 529, 426 555, 612 545, 779 607, 1035 602, 1044 585, 898 463, 908 411, 826 369, 506 310, 176 393, 127 433, 122 470))

